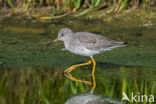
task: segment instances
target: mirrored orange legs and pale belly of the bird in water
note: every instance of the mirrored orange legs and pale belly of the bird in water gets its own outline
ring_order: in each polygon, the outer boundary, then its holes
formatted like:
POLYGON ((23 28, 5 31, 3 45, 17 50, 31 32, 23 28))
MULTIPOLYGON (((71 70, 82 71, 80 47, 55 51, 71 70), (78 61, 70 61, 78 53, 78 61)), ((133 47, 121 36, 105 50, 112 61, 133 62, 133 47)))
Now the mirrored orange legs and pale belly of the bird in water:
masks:
POLYGON ((106 97, 104 95, 93 93, 96 87, 94 74, 92 74, 92 82, 75 78, 70 73, 65 73, 65 76, 73 81, 82 82, 91 86, 90 92, 76 94, 70 97, 65 104, 124 104, 124 102, 119 102, 118 100, 106 97))

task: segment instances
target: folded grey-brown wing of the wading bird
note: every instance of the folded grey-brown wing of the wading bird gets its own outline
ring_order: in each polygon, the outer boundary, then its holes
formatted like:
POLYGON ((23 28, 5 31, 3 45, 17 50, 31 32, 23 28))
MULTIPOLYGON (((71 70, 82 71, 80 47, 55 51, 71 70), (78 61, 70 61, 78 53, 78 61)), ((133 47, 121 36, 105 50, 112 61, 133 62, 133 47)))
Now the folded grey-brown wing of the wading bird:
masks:
POLYGON ((101 48, 108 48, 122 44, 122 42, 117 42, 104 36, 96 35, 89 32, 77 32, 74 35, 75 39, 79 41, 80 45, 83 45, 90 50, 100 50, 101 48))

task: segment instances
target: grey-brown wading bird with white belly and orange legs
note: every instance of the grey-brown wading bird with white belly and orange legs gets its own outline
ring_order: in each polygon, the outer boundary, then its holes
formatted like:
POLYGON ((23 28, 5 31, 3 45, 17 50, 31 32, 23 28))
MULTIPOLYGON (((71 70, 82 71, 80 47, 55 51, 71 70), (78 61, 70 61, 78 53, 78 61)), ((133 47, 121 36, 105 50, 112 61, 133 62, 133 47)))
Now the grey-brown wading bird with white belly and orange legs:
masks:
POLYGON ((58 36, 53 42, 63 41, 65 49, 71 53, 89 57, 89 61, 82 64, 72 65, 64 72, 69 73, 76 67, 89 65, 93 62, 92 75, 95 73, 96 62, 94 55, 114 48, 126 46, 127 42, 119 42, 111 40, 107 37, 91 33, 91 32, 73 32, 70 28, 62 28, 58 32, 58 36))

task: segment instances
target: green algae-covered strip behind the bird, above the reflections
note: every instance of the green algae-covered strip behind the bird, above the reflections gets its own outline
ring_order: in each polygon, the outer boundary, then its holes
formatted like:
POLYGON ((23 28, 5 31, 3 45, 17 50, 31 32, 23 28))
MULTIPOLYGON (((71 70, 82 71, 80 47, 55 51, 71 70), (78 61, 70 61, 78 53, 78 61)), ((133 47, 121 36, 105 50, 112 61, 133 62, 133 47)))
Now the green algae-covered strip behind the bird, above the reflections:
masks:
POLYGON ((0 21, 0 66, 1 68, 12 66, 67 67, 77 61, 87 60, 85 57, 74 55, 68 51, 61 51, 61 48, 64 48, 62 42, 47 46, 57 37, 57 32, 61 28, 69 27, 75 32, 94 32, 114 40, 128 41, 126 47, 96 55, 96 61, 118 65, 155 67, 156 26, 141 26, 141 23, 131 25, 132 21, 138 22, 133 18, 131 21, 124 22, 112 18, 112 22, 106 22, 101 19, 90 20, 82 17, 69 17, 47 22, 26 18, 0 21))

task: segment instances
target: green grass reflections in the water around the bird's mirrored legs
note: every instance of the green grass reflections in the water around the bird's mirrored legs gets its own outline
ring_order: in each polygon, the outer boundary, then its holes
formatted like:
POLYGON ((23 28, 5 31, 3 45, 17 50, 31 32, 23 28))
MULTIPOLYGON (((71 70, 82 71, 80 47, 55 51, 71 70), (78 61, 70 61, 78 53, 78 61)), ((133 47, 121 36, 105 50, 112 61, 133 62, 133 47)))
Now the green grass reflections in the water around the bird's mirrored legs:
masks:
MULTIPOLYGON (((91 66, 81 67, 72 73, 76 78, 91 81, 90 69, 91 66)), ((49 67, 1 70, 0 104, 64 104, 69 97, 90 91, 91 86, 64 77, 63 70, 49 67)), ((97 66, 95 93, 118 100, 122 99, 122 92, 129 97, 132 92, 156 96, 155 74, 155 69, 149 67, 97 66)))

